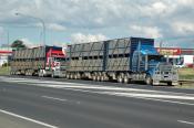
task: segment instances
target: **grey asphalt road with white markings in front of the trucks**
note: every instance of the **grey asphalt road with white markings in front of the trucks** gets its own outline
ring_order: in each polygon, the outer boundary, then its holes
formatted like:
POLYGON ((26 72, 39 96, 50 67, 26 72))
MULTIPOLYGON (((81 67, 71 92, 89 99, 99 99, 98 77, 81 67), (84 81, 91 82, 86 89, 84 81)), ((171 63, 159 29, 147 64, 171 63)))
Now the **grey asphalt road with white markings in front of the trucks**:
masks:
POLYGON ((0 76, 0 128, 193 127, 193 90, 0 76))

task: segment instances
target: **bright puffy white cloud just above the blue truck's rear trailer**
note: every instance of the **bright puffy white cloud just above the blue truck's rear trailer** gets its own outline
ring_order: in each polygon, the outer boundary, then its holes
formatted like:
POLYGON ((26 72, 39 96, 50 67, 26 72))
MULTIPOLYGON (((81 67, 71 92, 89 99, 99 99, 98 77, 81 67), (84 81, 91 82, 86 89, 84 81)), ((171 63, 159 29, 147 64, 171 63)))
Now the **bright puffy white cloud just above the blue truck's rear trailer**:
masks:
POLYGON ((95 41, 104 41, 108 38, 103 34, 82 34, 75 33, 71 35, 72 43, 86 43, 86 42, 95 42, 95 41))

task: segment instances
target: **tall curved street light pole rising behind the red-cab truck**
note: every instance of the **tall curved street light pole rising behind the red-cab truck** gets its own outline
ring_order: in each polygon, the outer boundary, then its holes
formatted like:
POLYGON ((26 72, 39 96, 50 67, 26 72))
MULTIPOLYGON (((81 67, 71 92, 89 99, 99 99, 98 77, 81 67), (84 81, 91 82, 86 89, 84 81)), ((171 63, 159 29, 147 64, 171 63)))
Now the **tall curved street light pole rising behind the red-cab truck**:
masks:
POLYGON ((45 22, 40 18, 35 18, 35 17, 32 17, 32 15, 25 15, 25 14, 22 14, 22 13, 19 13, 19 12, 16 13, 16 15, 22 15, 22 17, 25 17, 25 18, 31 18, 31 19, 35 19, 35 20, 40 21, 41 24, 42 24, 43 45, 45 45, 45 22))

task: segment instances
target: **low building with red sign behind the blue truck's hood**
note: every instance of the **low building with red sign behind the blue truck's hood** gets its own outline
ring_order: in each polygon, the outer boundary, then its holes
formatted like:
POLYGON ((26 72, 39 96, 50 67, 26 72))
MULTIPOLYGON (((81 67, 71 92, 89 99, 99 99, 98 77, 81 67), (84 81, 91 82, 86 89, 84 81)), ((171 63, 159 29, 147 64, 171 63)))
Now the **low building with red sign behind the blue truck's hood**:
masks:
POLYGON ((164 55, 169 62, 177 67, 193 67, 194 65, 194 49, 180 47, 156 47, 157 52, 164 55))

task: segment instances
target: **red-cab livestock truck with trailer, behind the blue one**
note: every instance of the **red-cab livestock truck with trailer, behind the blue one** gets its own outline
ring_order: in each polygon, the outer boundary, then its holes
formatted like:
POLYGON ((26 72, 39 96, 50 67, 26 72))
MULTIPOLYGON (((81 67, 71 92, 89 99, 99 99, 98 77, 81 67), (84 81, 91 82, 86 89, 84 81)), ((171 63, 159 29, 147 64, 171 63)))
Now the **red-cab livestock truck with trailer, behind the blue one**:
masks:
POLYGON ((11 74, 63 77, 64 61, 65 54, 58 46, 16 50, 12 52, 11 74))

